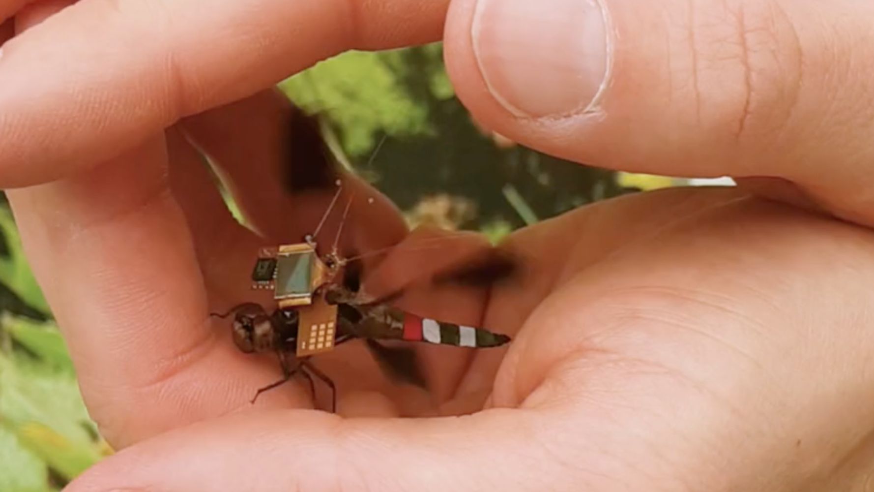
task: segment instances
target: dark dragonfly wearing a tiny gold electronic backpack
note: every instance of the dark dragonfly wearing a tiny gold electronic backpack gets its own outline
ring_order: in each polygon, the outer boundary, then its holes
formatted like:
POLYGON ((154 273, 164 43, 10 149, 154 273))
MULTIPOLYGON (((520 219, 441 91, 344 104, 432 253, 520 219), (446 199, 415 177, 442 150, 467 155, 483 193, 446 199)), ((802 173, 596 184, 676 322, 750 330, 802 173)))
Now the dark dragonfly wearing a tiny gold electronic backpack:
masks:
MULTIPOLYGON (((284 186, 288 193, 324 192, 332 187, 336 187, 336 191, 313 233, 304 235, 301 242, 262 248, 254 258, 252 288, 273 292, 275 306, 272 309, 244 302, 225 313, 212 313, 218 318, 232 316, 232 340, 242 352, 277 355, 281 378, 257 390, 252 403, 265 391, 301 375, 309 382, 314 401, 314 377, 329 387, 330 411, 336 412, 336 384, 312 363, 312 358, 353 340, 364 341, 386 376, 421 388, 426 388, 425 378, 412 344, 496 348, 510 342, 506 334, 435 320, 392 306, 393 301, 403 297, 406 288, 393 289, 377 297, 361 292, 362 258, 369 254, 343 256, 337 247, 351 197, 333 245, 320 252, 316 239, 343 193, 341 172, 324 142, 317 116, 295 109, 288 130, 289 148, 295 154, 294 158, 285 159, 284 186), (390 346, 385 341, 406 343, 390 346)), ((371 255, 386 254, 390 250, 378 250, 371 255)), ((432 285, 495 285, 510 278, 516 269, 516 258, 491 248, 446 267, 430 282, 432 285)))

